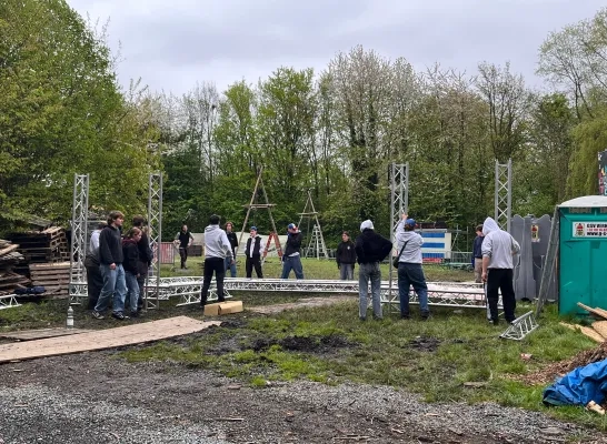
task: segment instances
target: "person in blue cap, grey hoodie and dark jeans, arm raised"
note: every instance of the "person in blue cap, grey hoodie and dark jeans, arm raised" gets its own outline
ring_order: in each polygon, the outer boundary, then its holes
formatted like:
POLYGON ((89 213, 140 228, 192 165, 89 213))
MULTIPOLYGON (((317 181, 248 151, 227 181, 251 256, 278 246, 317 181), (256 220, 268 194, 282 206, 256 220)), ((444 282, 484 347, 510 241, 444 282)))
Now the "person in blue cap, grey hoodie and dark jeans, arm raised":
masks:
POLYGON ((428 307, 428 285, 421 268, 421 245, 424 238, 415 232, 415 219, 402 214, 396 228, 396 243, 398 253, 398 297, 400 300, 400 319, 409 319, 409 287, 412 285, 419 300, 421 319, 426 321, 430 315, 428 307), (406 243, 406 244, 405 244, 406 243), (402 248, 405 245, 405 248, 402 248))

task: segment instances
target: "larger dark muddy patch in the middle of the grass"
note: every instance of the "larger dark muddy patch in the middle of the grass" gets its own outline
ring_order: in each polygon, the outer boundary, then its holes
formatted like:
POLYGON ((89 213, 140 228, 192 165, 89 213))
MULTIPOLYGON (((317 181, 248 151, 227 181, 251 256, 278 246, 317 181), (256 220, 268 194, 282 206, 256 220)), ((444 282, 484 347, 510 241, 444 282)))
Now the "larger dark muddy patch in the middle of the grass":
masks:
POLYGON ((282 350, 290 352, 305 352, 325 354, 331 353, 339 349, 352 347, 357 344, 348 341, 347 337, 339 334, 331 334, 328 336, 287 336, 282 340, 273 340, 268 337, 260 337, 253 341, 250 345, 256 352, 262 352, 268 350, 272 345, 280 345, 282 350))

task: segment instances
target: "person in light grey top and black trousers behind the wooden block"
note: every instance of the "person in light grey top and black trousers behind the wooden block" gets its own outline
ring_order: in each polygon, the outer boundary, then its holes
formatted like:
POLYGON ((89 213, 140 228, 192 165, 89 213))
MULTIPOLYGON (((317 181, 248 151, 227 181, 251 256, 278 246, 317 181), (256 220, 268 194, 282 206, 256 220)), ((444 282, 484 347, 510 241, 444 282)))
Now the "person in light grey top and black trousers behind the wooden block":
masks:
POLYGON ((200 294, 200 305, 207 304, 209 286, 215 272, 217 281, 217 302, 223 302, 223 278, 226 276, 226 262, 233 263, 232 246, 228 235, 219 228, 221 219, 213 214, 209 218, 209 225, 205 229, 205 278, 200 294))

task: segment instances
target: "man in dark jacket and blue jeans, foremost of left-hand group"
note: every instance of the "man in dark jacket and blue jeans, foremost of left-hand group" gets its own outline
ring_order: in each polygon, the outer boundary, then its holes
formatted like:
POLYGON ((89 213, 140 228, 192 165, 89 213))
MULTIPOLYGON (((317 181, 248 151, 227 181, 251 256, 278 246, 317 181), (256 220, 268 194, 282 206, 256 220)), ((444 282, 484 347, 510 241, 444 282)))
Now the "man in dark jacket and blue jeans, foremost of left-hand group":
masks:
POLYGON ((99 268, 103 276, 103 287, 92 311, 92 317, 103 319, 103 312, 112 302, 112 317, 123 321, 125 296, 127 294, 127 282, 125 281, 125 269, 122 268, 122 240, 120 229, 125 222, 125 214, 120 211, 112 211, 108 216, 108 226, 99 234, 99 268))

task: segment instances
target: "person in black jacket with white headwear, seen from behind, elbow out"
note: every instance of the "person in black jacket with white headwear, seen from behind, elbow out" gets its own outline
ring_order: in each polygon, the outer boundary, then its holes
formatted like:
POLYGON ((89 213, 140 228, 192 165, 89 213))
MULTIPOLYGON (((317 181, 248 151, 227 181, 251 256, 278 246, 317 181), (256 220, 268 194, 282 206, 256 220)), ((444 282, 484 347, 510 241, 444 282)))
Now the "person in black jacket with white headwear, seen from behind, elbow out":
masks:
POLYGON ((371 283, 371 297, 374 317, 380 320, 381 314, 381 271, 379 263, 386 259, 392 249, 392 243, 374 231, 374 223, 366 220, 360 224, 360 235, 356 239, 355 250, 358 260, 358 316, 367 320, 367 294, 369 281, 371 283))

